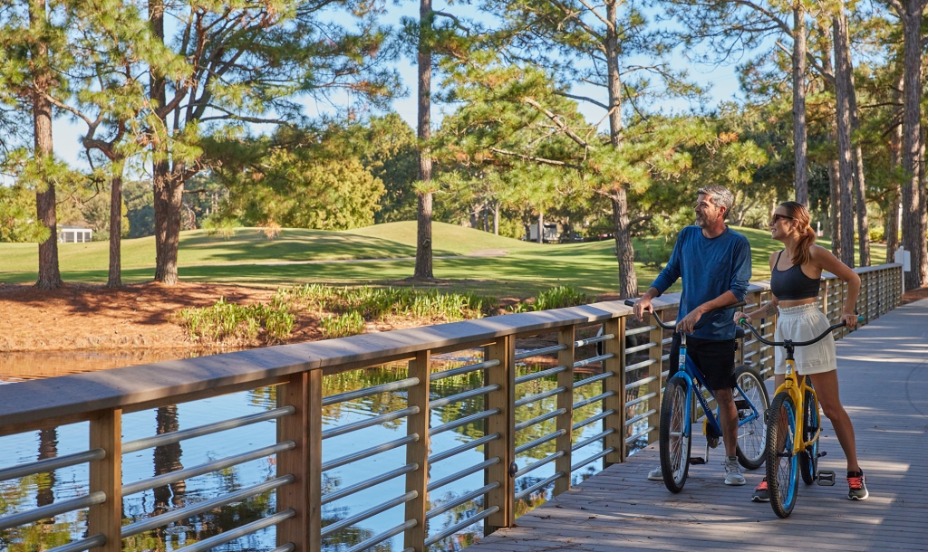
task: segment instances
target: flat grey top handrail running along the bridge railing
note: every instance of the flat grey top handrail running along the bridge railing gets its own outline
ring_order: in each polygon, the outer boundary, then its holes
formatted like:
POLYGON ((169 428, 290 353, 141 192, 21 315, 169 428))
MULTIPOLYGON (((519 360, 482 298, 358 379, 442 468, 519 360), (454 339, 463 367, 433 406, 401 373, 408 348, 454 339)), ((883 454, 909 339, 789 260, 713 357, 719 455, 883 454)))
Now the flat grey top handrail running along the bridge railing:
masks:
MULTIPOLYGON (((899 266, 855 270, 870 272, 899 266)), ((822 274, 823 280, 829 277, 822 274)), ((748 293, 768 289, 768 282, 754 282, 748 293)), ((653 305, 657 309, 677 307, 679 297, 678 293, 664 294, 655 298, 653 305)), ((17 433, 22 431, 21 426, 47 419, 89 419, 95 411, 109 408, 128 412, 164 400, 180 402, 197 393, 222 395, 239 388, 282 383, 290 375, 307 370, 321 369, 326 374, 356 370, 381 365, 385 359, 412 358, 419 351, 489 342, 504 335, 593 323, 630 313, 631 308, 622 301, 603 301, 0 385, 0 428, 4 428, 0 434, 17 433), (334 367, 340 368, 326 370, 334 367)))

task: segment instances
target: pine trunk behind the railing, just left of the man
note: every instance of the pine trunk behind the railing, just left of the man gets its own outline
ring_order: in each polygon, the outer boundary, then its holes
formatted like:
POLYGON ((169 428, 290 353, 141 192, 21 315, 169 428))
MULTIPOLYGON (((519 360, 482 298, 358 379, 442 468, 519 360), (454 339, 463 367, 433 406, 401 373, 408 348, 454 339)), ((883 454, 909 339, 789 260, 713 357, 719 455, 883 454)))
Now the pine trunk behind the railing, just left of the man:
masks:
MULTIPOLYGON (((618 0, 606 1, 606 69, 609 88, 609 142, 617 148, 622 140, 622 81, 618 57, 618 0)), ((628 223, 628 198, 625 187, 615 184, 612 201, 612 232, 615 234, 615 257, 619 264, 619 296, 638 297, 638 276, 635 274, 635 248, 628 223)))

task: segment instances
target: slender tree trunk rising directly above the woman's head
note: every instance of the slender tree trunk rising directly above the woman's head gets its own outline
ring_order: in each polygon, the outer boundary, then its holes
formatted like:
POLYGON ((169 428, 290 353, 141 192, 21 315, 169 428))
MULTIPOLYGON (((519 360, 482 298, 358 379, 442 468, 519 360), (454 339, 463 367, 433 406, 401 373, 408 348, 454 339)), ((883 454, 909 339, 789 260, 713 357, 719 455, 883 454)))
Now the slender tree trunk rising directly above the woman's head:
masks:
POLYGON ((806 160, 806 7, 803 0, 793 6, 793 152, 795 155, 796 201, 808 207, 806 160))

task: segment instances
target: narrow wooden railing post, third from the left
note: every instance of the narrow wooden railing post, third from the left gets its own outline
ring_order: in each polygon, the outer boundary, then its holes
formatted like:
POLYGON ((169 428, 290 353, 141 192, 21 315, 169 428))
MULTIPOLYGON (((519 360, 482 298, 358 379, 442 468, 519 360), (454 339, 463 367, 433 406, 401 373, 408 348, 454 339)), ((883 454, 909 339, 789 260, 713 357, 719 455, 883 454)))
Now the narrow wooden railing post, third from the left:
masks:
POLYGON ((419 440, 406 445, 406 463, 415 462, 419 469, 406 473, 406 492, 416 491, 419 496, 406 502, 406 521, 416 520, 416 525, 406 530, 403 546, 416 552, 425 552, 425 539, 429 536, 429 526, 425 515, 429 511, 429 394, 431 385, 429 372, 432 366, 430 351, 419 351, 415 360, 409 361, 409 377, 419 378, 419 384, 409 388, 406 393, 408 405, 419 407, 418 414, 411 414, 406 419, 406 434, 419 435, 419 440))

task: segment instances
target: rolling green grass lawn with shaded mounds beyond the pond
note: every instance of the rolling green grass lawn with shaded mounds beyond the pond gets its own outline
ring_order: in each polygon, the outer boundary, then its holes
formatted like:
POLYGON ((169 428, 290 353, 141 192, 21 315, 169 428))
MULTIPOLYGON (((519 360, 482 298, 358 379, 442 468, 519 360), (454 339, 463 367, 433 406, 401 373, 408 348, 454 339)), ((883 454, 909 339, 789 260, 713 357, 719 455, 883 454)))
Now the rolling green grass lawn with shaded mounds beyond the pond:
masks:
MULTIPOLYGON (((767 259, 779 249, 769 233, 737 228, 751 241, 754 281, 770 276, 767 259)), ((497 297, 529 297, 555 285, 569 283, 588 294, 615 290, 617 264, 614 242, 538 245, 491 233, 434 223, 436 257, 434 274, 447 282, 437 284, 449 291, 472 291, 497 297), (501 250, 502 257, 463 257, 474 251, 501 250)), ((376 262, 333 262, 319 264, 255 264, 414 257, 415 222, 380 224, 349 232, 285 230, 274 240, 258 229, 239 229, 223 239, 203 231, 182 232, 178 257, 181 279, 191 282, 222 282, 257 286, 295 283, 339 285, 404 285, 413 272, 412 260, 376 262)), ((828 246, 824 241, 820 245, 828 246)), ((664 248, 663 240, 636 241, 637 251, 645 246, 664 248)), ((59 245, 62 278, 66 282, 104 283, 107 280, 108 243, 59 245)), ((0 282, 34 282, 36 245, 0 244, 0 282)), ((873 245, 873 264, 885 258, 885 247, 873 245)), ((148 282, 153 276, 154 238, 123 240, 123 282, 148 282)), ((646 288, 657 268, 636 263, 638 287, 646 288)), ((675 288, 679 289, 679 283, 675 288)))

